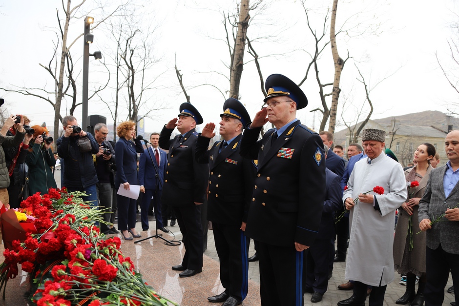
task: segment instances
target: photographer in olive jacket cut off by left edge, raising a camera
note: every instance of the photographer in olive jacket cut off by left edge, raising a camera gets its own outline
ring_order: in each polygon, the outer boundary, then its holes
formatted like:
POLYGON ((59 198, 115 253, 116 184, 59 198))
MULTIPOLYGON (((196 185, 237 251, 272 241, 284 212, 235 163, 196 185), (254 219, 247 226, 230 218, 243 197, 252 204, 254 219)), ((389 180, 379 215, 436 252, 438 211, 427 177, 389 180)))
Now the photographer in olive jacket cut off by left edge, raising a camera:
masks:
POLYGON ((0 207, 4 204, 9 208, 8 186, 10 185, 10 176, 6 167, 6 157, 4 149, 21 145, 24 140, 25 130, 23 127, 24 120, 22 116, 11 115, 6 119, 5 124, 0 130, 0 207), (7 136, 8 130, 16 124, 16 135, 7 136))

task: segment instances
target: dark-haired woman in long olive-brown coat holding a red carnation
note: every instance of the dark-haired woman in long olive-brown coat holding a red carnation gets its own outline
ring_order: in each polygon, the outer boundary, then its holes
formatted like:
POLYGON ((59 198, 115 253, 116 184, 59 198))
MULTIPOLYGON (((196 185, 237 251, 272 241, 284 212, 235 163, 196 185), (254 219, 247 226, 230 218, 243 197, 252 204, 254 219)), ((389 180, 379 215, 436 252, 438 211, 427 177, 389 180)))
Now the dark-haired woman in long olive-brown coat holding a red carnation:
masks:
POLYGON ((394 238, 394 268, 406 275, 406 292, 396 304, 421 306, 424 303, 425 275, 425 232, 416 235, 413 220, 417 222, 419 200, 424 194, 429 174, 434 169, 430 161, 435 156, 435 147, 431 143, 420 144, 415 153, 417 164, 405 171, 408 198, 399 209, 394 238), (419 277, 417 293, 416 276, 419 277))

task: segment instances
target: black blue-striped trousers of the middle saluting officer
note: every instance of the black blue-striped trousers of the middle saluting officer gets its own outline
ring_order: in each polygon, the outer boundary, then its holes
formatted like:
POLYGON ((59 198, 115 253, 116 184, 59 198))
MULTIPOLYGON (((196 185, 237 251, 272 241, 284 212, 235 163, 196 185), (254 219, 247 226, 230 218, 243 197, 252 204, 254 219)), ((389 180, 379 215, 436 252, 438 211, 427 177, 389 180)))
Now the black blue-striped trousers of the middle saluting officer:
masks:
POLYGON ((250 239, 237 225, 212 222, 215 248, 220 260, 220 281, 230 296, 243 301, 249 290, 250 239))

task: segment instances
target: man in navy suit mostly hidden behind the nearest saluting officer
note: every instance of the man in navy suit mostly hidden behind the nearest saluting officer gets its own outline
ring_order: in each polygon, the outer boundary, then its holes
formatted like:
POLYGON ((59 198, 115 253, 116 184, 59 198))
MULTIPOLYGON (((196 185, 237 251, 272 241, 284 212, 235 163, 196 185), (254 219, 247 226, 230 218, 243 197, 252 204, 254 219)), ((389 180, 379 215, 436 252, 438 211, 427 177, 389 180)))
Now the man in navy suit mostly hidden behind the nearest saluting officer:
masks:
MULTIPOLYGON (((324 144, 325 152, 328 146, 324 144)), ((327 158, 327 153, 325 153, 327 158)), ((313 293, 311 302, 322 301, 327 291, 330 254, 330 239, 334 238, 334 212, 341 206, 343 191, 339 185, 339 177, 325 168, 325 201, 322 210, 319 233, 314 244, 306 252, 305 291, 313 293)))

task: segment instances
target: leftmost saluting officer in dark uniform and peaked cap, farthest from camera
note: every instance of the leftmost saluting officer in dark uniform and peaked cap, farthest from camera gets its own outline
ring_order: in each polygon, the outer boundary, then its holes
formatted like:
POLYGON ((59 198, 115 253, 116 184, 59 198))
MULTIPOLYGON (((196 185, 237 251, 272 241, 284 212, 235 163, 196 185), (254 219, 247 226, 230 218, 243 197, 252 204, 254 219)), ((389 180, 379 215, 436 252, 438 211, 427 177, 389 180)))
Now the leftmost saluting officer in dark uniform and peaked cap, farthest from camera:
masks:
POLYGON ((180 277, 189 277, 202 272, 200 205, 204 203, 209 183, 209 165, 199 164, 195 159, 198 138, 195 128, 196 124, 203 122, 201 114, 193 105, 185 102, 180 105, 178 117, 178 120, 174 118, 167 122, 159 137, 159 146, 169 150, 161 201, 172 205, 185 246, 182 264, 172 266, 172 270, 183 271, 180 277), (175 127, 180 134, 170 139, 175 127))

